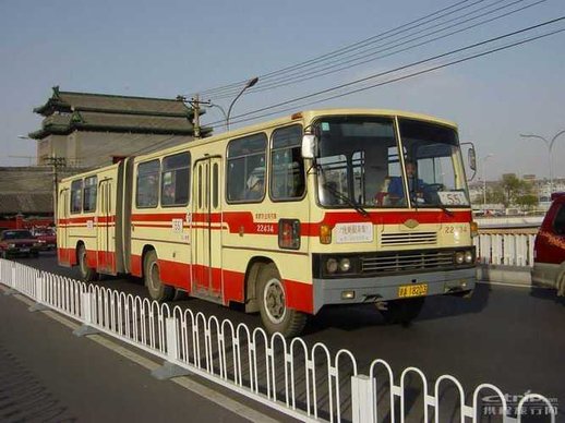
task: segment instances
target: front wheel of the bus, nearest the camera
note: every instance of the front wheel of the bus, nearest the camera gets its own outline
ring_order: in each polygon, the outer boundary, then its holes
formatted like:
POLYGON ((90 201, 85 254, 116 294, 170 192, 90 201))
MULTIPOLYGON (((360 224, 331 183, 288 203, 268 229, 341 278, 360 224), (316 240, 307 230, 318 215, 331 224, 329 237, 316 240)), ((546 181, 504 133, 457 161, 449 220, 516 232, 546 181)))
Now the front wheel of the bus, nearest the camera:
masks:
POLYGON ((263 326, 269 334, 278 331, 290 338, 302 331, 306 315, 287 307, 285 287, 274 264, 261 268, 256 298, 263 326))

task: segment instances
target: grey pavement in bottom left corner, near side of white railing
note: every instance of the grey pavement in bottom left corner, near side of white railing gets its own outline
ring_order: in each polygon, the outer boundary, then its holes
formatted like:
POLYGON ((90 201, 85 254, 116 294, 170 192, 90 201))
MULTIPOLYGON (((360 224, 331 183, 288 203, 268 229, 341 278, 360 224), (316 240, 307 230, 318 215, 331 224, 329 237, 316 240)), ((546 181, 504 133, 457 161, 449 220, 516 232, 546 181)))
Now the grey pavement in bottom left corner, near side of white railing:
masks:
POLYGON ((75 337, 55 313, 29 313, 1 292, 1 422, 290 421, 202 379, 157 380, 156 359, 101 336, 75 337))

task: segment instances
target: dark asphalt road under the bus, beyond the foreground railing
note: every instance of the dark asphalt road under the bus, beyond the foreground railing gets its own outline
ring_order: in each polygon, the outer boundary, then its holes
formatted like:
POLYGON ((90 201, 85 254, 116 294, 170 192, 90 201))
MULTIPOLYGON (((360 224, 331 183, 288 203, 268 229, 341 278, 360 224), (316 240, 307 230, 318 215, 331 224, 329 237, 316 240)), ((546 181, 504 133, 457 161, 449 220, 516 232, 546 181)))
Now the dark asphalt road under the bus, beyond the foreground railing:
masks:
MULTIPOLYGON (((77 276, 75 269, 58 267, 52 255, 22 262, 77 276)), ((106 279, 99 283, 145 297, 140 282, 106 279)), ((252 327, 260 324, 255 315, 204 301, 189 299, 177 303, 208 316, 243 322, 252 327)), ((303 338, 309 345, 322 341, 334 353, 349 349, 357 356, 361 373, 366 373, 370 362, 380 358, 390 363, 397 377, 412 365, 432 380, 442 374, 456 376, 467 394, 481 383, 495 384, 510 396, 529 390, 539 392, 555 398, 563 415, 563 322, 565 302, 557 300, 553 291, 481 283, 471 300, 430 299, 421 317, 410 327, 384 325, 370 305, 328 307, 310 322, 303 338)), ((148 377, 145 372, 140 373, 148 377)))

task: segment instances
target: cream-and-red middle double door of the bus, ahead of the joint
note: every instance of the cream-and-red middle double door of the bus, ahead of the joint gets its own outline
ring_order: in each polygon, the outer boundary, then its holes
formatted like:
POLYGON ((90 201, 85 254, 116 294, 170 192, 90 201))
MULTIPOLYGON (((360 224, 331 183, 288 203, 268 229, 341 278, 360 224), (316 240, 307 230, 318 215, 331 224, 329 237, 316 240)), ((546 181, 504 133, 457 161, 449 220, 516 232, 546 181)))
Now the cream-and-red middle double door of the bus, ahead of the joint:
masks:
POLYGON ((192 221, 192 293, 221 298, 221 158, 194 164, 192 221))

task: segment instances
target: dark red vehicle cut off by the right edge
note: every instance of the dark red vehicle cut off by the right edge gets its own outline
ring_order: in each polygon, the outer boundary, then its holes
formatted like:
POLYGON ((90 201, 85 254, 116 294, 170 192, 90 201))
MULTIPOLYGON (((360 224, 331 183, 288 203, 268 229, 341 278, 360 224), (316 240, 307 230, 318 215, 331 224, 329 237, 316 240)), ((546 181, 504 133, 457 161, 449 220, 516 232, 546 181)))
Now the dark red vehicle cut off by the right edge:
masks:
POLYGON ((531 281, 565 295, 565 192, 554 193, 533 246, 531 281))

